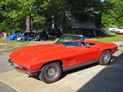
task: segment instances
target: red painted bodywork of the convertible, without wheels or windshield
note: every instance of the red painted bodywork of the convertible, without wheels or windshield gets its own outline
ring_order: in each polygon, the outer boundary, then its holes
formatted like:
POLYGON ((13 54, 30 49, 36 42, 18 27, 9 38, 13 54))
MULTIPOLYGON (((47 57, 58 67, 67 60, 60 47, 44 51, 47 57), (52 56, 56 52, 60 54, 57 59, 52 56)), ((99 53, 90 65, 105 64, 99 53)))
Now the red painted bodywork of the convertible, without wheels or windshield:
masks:
POLYGON ((37 71, 31 73, 35 75, 38 74, 41 67, 48 62, 60 60, 64 69, 97 60, 104 50, 109 49, 111 54, 113 54, 117 49, 117 45, 113 43, 97 41, 86 41, 86 43, 94 43, 94 45, 90 45, 89 47, 71 47, 58 44, 28 46, 14 51, 9 57, 11 62, 14 61, 18 65, 18 69, 28 72, 29 74, 33 71, 37 71), (22 67, 24 69, 22 69, 22 67))

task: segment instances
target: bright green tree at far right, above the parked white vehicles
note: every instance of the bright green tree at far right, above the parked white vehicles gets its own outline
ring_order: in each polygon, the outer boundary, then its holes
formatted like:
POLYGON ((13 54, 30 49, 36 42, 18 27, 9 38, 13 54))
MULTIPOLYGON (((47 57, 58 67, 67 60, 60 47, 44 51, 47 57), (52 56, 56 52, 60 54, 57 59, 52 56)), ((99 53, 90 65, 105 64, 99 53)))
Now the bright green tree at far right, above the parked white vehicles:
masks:
POLYGON ((102 26, 105 28, 109 28, 111 25, 123 26, 123 1, 106 0, 105 3, 110 8, 102 12, 102 26))

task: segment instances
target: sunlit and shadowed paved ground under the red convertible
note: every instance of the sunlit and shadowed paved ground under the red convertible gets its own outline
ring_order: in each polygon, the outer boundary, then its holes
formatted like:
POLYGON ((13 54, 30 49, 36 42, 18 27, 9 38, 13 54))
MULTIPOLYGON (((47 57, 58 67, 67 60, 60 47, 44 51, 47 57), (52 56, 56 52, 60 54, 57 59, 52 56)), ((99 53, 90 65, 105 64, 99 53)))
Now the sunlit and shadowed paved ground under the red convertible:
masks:
POLYGON ((0 92, 123 92, 123 43, 107 66, 98 63, 64 72, 59 81, 45 84, 37 76, 19 73, 0 55, 0 92))

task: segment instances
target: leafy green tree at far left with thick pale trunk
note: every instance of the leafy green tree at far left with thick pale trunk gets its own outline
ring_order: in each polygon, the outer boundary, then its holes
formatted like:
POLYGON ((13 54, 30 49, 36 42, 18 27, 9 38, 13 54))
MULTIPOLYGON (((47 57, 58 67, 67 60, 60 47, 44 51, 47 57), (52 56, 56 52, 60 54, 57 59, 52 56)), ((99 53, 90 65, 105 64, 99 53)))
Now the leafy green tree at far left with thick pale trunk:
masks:
MULTIPOLYGON (((34 16, 36 11, 33 9, 35 0, 4 0, 0 1, 1 5, 5 5, 3 16, 9 19, 11 23, 29 19, 34 16)), ((30 21, 27 21, 27 31, 30 31, 30 21)))

